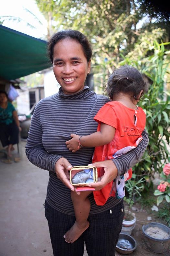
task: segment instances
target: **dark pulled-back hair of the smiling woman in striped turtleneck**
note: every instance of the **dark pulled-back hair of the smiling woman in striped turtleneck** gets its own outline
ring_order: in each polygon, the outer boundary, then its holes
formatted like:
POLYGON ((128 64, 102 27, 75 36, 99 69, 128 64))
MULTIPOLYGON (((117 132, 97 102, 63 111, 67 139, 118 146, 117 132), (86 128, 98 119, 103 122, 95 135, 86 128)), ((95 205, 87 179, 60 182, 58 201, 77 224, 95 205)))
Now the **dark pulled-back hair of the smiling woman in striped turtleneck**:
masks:
POLYGON ((54 51, 54 46, 56 43, 58 43, 60 40, 71 38, 73 40, 76 40, 78 43, 81 44, 83 48, 84 55, 87 59, 87 61, 90 61, 90 58, 92 56, 92 49, 91 45, 88 41, 88 39, 79 31, 77 30, 62 30, 57 33, 55 33, 49 40, 48 42, 48 55, 53 62, 53 51, 54 51))

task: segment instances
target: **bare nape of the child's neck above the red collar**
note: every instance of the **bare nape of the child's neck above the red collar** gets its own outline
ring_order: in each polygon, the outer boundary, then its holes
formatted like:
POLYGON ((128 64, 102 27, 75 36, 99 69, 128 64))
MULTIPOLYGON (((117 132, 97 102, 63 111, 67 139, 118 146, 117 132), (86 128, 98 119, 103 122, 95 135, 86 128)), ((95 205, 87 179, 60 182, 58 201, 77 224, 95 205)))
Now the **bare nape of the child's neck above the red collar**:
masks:
POLYGON ((137 100, 135 100, 133 98, 132 94, 120 92, 120 93, 115 94, 113 96, 112 101, 118 101, 118 102, 122 103, 126 107, 137 109, 137 107, 136 107, 137 100))

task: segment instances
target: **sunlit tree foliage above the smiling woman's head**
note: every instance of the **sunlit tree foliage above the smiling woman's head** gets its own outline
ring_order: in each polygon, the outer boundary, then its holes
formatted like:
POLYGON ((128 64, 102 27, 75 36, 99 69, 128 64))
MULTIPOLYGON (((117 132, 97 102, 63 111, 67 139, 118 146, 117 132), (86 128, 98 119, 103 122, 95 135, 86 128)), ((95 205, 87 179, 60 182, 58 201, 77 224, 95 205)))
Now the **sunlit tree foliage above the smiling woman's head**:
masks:
POLYGON ((169 41, 168 27, 165 26, 168 21, 155 19, 151 8, 150 11, 141 8, 143 2, 36 0, 39 10, 48 20, 48 38, 58 30, 79 30, 92 43, 93 64, 102 62, 105 65, 107 62, 110 71, 122 60, 121 55, 147 55, 147 43, 169 41))

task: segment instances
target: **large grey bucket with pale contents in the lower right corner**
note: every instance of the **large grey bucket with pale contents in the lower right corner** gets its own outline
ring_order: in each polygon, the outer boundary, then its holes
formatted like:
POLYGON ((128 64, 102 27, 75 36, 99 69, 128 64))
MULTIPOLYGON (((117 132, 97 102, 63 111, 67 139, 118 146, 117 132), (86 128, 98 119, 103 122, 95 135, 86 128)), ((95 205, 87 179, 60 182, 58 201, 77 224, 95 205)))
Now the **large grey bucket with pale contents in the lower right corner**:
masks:
POLYGON ((156 253, 163 253, 166 252, 168 250, 169 244, 170 244, 170 228, 161 224, 161 223, 157 223, 157 222, 151 222, 147 225, 143 225, 142 227, 142 231, 144 234, 144 241, 147 245, 147 247, 156 253), (165 231, 168 235, 169 238, 167 239, 158 239, 158 238, 154 238, 151 237, 150 235, 148 235, 145 230, 148 227, 159 227, 160 229, 162 229, 163 231, 165 231))

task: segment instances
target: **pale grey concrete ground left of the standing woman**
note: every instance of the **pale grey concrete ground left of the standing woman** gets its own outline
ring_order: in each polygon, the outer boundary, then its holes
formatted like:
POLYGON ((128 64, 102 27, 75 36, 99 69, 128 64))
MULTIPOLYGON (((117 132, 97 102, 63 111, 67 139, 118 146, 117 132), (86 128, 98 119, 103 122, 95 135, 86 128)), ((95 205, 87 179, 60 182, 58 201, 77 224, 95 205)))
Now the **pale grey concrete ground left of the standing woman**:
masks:
POLYGON ((43 206, 48 171, 28 161, 25 144, 20 162, 0 161, 0 256, 53 256, 43 206))

